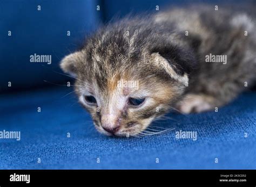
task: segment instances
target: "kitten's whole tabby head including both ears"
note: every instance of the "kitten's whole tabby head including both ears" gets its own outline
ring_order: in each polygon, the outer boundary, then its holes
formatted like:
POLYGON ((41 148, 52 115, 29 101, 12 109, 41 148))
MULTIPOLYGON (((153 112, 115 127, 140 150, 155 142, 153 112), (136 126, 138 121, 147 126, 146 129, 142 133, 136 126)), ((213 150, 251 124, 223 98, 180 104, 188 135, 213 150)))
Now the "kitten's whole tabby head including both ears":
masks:
POLYGON ((60 66, 76 77, 79 102, 100 133, 139 134, 183 94, 190 53, 161 41, 135 45, 121 34, 99 36, 66 56, 60 66))

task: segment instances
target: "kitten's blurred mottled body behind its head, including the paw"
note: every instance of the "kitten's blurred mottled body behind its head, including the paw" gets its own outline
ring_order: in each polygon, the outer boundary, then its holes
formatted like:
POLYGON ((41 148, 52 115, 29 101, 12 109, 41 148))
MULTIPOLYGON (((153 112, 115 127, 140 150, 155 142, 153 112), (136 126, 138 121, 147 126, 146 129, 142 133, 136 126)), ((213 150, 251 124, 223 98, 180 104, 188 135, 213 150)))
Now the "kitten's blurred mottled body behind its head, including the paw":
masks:
POLYGON ((181 111, 201 112, 222 106, 255 84, 255 13, 196 6, 160 13, 156 20, 163 25, 174 24, 178 32, 188 31, 184 41, 197 56, 199 70, 190 78, 181 111), (226 64, 206 63, 206 55, 210 54, 226 55, 226 64))

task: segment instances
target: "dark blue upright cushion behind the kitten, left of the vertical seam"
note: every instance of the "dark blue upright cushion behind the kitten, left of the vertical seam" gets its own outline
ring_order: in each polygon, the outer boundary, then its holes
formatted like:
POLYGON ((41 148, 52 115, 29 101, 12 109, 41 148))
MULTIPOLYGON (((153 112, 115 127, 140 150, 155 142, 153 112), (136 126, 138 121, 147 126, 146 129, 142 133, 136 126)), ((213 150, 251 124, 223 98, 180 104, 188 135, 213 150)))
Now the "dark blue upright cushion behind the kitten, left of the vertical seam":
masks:
POLYGON ((60 71, 60 59, 79 48, 100 24, 97 4, 98 0, 1 0, 0 91, 49 86, 43 80, 62 81, 53 70, 60 71), (34 54, 51 55, 51 64, 31 63, 34 54))

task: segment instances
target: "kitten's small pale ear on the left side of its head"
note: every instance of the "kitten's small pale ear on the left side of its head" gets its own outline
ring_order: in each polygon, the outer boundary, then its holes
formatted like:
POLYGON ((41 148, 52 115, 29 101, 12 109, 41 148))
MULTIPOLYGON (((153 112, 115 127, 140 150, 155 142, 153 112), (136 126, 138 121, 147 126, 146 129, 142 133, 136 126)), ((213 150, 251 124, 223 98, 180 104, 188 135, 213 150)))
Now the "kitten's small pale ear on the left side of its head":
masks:
POLYGON ((60 61, 60 68, 65 73, 70 74, 71 76, 77 76, 77 63, 81 59, 82 52, 75 52, 65 56, 62 61, 60 61))

